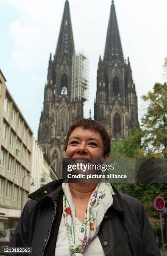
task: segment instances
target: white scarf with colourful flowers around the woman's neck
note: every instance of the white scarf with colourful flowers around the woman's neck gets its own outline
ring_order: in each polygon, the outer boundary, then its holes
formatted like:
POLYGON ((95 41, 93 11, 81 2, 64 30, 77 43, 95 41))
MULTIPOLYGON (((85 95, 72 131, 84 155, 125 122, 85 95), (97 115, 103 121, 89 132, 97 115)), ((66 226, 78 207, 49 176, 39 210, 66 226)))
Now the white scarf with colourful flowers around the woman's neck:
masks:
MULTIPOLYGON (((103 181, 104 182, 104 181, 103 181)), ((82 251, 87 248, 90 241, 97 236, 105 212, 112 205, 115 195, 110 183, 98 183, 90 196, 85 211, 85 218, 80 227, 79 237, 75 237, 75 205, 72 200, 68 183, 62 184, 63 216, 70 242, 70 253, 72 256, 83 256, 82 251)))

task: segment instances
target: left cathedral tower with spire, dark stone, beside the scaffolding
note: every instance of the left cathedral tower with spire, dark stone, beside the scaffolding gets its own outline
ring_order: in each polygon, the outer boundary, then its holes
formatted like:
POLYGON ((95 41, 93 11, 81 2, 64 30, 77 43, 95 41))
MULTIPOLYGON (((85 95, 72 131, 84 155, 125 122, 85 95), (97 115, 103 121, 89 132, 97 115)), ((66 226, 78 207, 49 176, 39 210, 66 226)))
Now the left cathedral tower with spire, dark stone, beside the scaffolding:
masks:
POLYGON ((52 59, 50 54, 47 84, 45 84, 43 111, 38 129, 38 142, 49 157, 58 176, 61 177, 61 163, 68 127, 83 117, 84 99, 72 97, 72 59, 75 54, 70 6, 65 7, 52 59), (73 99, 73 100, 72 100, 73 99))

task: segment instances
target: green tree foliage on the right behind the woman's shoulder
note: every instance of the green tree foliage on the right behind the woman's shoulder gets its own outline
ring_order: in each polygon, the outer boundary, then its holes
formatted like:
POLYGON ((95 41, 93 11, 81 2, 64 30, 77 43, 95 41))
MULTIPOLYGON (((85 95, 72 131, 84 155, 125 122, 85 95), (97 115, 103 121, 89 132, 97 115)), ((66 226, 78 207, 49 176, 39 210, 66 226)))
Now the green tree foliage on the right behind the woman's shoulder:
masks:
MULTIPOLYGON (((148 103, 142 125, 136 125, 131 136, 112 142, 110 158, 167 158, 167 83, 155 84, 153 92, 142 96, 148 103)), ((167 202, 167 184, 117 184, 120 192, 140 200, 151 217, 159 218, 153 207, 157 196, 167 202)))

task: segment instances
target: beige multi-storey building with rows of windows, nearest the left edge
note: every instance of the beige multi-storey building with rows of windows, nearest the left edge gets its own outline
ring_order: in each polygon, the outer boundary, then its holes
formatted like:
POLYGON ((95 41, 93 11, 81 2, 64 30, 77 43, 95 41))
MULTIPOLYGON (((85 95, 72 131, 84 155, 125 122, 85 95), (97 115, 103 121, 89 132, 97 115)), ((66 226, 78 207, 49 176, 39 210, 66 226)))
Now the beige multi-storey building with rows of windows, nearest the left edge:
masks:
POLYGON ((0 228, 12 228, 29 194, 33 133, 5 81, 0 71, 0 228))

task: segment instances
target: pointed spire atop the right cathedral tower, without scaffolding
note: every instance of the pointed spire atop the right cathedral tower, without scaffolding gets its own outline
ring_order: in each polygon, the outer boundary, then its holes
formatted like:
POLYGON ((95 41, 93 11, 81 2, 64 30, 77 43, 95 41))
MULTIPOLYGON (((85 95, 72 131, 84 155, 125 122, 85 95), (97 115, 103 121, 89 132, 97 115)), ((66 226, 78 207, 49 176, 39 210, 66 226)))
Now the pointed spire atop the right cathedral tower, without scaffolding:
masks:
POLYGON ((117 23, 114 0, 112 0, 111 10, 110 10, 110 19, 109 19, 108 29, 107 29, 104 60, 112 61, 116 59, 123 61, 124 56, 123 56, 123 51, 121 46, 121 39, 120 39, 120 33, 119 33, 119 28, 117 23))

